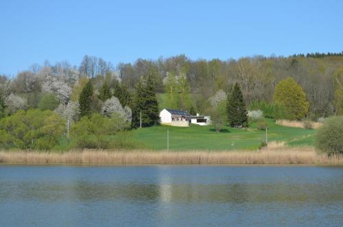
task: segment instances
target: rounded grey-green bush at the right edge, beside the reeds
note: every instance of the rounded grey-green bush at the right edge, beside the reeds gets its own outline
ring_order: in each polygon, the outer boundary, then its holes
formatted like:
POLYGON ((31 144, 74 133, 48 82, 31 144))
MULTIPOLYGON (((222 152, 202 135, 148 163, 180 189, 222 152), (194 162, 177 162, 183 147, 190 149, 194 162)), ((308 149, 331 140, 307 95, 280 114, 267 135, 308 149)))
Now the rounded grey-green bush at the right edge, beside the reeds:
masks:
POLYGON ((316 147, 327 154, 343 154, 343 116, 324 121, 316 136, 316 147))

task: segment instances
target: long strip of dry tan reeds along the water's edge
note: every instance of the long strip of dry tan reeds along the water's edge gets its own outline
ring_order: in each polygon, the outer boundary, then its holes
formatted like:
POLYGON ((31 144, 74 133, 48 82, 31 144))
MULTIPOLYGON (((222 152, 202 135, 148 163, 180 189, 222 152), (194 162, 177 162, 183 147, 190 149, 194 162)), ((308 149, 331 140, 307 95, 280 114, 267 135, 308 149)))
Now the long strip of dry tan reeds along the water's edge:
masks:
POLYGON ((0 163, 67 165, 343 165, 343 156, 319 154, 312 147, 267 148, 258 151, 154 152, 144 150, 82 150, 64 153, 0 152, 0 163))

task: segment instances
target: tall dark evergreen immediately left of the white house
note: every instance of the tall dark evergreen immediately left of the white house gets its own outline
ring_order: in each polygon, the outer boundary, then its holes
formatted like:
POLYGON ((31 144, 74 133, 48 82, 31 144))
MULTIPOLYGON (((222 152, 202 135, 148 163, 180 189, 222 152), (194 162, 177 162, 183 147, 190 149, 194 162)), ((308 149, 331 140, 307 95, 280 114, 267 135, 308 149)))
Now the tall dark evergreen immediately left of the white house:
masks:
POLYGON ((154 80, 151 75, 143 77, 137 87, 134 108, 132 110, 132 127, 139 127, 140 115, 142 115, 143 127, 154 126, 159 123, 158 104, 154 80))

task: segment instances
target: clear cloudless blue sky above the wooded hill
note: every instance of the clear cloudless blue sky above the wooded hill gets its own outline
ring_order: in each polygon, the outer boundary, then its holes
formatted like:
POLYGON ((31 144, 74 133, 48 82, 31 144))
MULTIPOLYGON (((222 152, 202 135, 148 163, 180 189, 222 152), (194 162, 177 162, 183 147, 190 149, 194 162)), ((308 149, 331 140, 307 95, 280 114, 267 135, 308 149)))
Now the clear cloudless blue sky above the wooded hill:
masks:
POLYGON ((0 3, 0 73, 85 54, 117 64, 343 50, 343 1, 16 1, 0 3))

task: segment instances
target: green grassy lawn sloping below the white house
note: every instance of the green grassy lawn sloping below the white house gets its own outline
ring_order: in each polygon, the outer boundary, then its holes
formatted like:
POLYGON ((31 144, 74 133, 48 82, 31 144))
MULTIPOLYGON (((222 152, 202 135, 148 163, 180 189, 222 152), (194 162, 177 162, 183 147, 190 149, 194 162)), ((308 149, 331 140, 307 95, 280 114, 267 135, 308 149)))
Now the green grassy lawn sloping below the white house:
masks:
MULTIPOLYGON (((277 126, 272 120, 268 120, 268 127, 268 141, 285 141, 288 145, 314 144, 316 130, 277 126)), ((167 130, 171 150, 254 150, 265 140, 265 131, 257 130, 254 123, 247 129, 224 126, 222 132, 215 132, 213 126, 154 126, 134 130, 132 139, 145 148, 164 150, 167 148, 167 130)))

